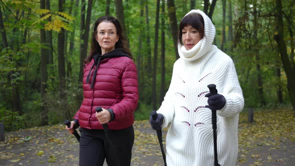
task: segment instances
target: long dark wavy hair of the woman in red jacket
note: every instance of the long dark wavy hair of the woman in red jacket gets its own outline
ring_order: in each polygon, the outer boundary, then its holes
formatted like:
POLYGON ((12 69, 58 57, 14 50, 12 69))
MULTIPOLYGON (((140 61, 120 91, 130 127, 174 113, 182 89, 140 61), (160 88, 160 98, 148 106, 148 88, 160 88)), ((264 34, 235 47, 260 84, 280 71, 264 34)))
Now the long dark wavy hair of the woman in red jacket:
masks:
POLYGON ((120 22, 115 17, 106 15, 106 16, 99 17, 93 25, 90 52, 89 52, 89 56, 85 58, 84 64, 89 63, 95 53, 101 54, 101 47, 95 38, 97 35, 97 26, 100 22, 111 22, 114 24, 114 26, 116 27, 117 35, 119 36, 119 40, 115 43, 114 48, 123 48, 125 53, 127 53, 128 56, 134 59, 132 57, 132 54, 130 53, 129 48, 127 48, 126 46, 127 42, 125 41, 125 38, 123 35, 123 29, 122 29, 122 26, 120 25, 120 22))

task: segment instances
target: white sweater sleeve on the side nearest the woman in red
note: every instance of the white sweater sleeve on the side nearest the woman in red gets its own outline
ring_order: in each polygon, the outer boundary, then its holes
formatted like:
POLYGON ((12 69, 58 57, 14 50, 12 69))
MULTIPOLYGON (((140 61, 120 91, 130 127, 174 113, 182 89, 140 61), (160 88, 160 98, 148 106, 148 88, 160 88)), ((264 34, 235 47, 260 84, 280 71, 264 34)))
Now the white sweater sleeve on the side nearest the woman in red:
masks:
POLYGON ((174 102, 173 102, 173 95, 174 95, 174 77, 175 77, 175 63, 173 66, 173 71, 172 71, 172 77, 171 77, 171 82, 169 85, 169 88, 164 96, 164 100, 161 103, 161 106, 157 110, 157 113, 161 113, 164 116, 162 128, 167 127, 167 125, 172 121, 173 116, 174 116, 174 102))

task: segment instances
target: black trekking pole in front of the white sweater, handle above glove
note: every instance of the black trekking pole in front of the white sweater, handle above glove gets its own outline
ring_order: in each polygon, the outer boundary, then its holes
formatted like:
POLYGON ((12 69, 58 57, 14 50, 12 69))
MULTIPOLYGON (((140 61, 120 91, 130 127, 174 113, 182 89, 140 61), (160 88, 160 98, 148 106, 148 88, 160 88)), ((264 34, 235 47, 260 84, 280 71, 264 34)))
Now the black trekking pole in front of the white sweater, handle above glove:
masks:
MULTIPOLYGON (((217 94, 217 89, 215 84, 209 84, 207 86, 211 95, 217 94)), ((217 124, 216 124, 216 110, 211 109, 212 111, 212 128, 213 128, 213 141, 214 141, 214 166, 220 166, 217 159, 217 124)))

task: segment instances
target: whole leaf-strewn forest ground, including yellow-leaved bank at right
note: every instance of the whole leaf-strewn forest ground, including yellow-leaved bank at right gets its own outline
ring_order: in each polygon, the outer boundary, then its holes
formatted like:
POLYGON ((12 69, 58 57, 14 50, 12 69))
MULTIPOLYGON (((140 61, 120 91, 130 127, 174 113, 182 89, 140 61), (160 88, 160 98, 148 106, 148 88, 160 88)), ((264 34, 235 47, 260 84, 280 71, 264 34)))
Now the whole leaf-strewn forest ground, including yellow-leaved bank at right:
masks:
MULTIPOLYGON (((295 120, 291 109, 255 112, 247 123, 241 112, 236 165, 294 165, 295 120)), ((131 165, 164 165, 156 132, 147 120, 135 121, 131 165)), ((163 141, 166 129, 163 130, 163 141)), ((64 125, 42 126, 5 133, 0 165, 78 165, 78 141, 64 125)), ((106 165, 106 164, 104 164, 106 165)))

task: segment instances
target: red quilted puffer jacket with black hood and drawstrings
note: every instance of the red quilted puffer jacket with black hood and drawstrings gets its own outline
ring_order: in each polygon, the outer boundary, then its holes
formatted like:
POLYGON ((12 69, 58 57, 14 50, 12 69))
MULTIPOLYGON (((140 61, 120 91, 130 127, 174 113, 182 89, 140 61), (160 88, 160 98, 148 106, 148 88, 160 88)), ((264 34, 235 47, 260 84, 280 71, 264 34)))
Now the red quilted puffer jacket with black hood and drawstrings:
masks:
POLYGON ((134 122, 133 112, 138 102, 136 66, 122 49, 98 56, 98 60, 94 60, 94 57, 84 66, 84 99, 73 118, 78 120, 82 128, 103 129, 95 116, 95 108, 101 106, 113 111, 114 117, 107 123, 109 129, 129 127, 134 122))

